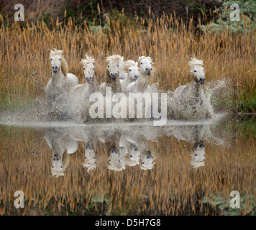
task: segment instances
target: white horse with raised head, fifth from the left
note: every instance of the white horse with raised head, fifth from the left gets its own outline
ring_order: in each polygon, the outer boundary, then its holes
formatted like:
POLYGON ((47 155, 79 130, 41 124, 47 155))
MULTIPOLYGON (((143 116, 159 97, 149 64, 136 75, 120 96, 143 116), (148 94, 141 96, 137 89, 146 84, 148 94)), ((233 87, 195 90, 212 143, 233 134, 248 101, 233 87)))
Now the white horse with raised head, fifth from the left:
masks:
POLYGON ((152 92, 152 88, 148 86, 148 77, 152 75, 152 59, 151 57, 139 57, 138 63, 140 63, 140 78, 135 82, 129 83, 127 86, 127 92, 152 92))

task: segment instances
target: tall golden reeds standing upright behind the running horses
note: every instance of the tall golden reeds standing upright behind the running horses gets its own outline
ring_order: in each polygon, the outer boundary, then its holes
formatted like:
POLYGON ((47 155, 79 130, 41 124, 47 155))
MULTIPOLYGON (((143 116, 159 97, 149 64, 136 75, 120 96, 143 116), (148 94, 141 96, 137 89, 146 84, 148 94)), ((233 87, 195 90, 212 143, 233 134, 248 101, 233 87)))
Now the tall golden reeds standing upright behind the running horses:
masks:
MULTIPOLYGON (((145 21, 137 19, 138 27, 120 28, 120 22, 109 20, 109 30, 92 32, 86 22, 78 27, 73 19, 63 27, 52 20, 52 29, 44 22, 10 24, 0 27, 0 84, 1 99, 7 97, 26 101, 44 92, 50 79, 49 50, 58 48, 68 60, 70 73, 83 82, 79 65, 86 52, 96 57, 98 81, 106 73, 105 57, 120 54, 124 59, 137 60, 140 55, 153 58, 158 72, 150 83, 159 82, 163 90, 173 90, 187 82, 188 55, 193 53, 202 60, 206 80, 230 78, 234 88, 255 90, 256 36, 252 32, 232 34, 229 30, 211 33, 193 27, 188 29, 175 17, 145 21), (110 27, 111 25, 111 27, 110 27)), ((249 26, 249 25, 247 25, 249 26)), ((200 24, 198 25, 200 27, 200 24)))

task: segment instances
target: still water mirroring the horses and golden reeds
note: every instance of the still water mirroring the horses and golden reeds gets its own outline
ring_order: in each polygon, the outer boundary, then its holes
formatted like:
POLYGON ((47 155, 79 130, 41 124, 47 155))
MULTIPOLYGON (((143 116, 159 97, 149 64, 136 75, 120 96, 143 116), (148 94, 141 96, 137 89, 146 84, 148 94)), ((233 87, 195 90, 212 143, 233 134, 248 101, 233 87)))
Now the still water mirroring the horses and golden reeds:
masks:
POLYGON ((0 126, 4 215, 255 214, 255 116, 0 126), (15 208, 14 193, 24 194, 15 208), (230 207, 239 192, 240 208, 230 207))

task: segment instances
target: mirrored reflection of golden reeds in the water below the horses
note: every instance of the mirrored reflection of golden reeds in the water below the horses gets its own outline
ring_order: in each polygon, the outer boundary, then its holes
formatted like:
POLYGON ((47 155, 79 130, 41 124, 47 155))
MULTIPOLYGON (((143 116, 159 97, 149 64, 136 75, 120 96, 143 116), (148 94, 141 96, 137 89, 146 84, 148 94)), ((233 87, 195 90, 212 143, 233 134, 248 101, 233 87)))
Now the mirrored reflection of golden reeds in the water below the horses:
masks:
POLYGON ((206 166, 197 171, 191 170, 185 142, 174 137, 149 143, 157 159, 155 168, 146 171, 138 165, 122 172, 107 170, 108 157, 100 144, 99 165, 88 173, 81 166, 85 144, 80 143, 78 151, 70 156, 65 177, 51 178, 52 153, 43 139, 44 131, 11 129, 5 133, 0 142, 2 214, 17 212, 13 207, 16 190, 24 191, 23 214, 36 210, 42 213, 47 207, 53 213, 62 206, 67 213, 83 213, 86 208, 94 209, 91 204, 101 209, 93 200, 96 197, 109 201, 109 214, 168 215, 182 213, 188 207, 191 214, 198 208, 207 214, 210 206, 202 202, 204 197, 211 200, 217 195, 229 202, 229 193, 239 190, 246 197, 244 202, 252 206, 247 195, 255 195, 255 158, 248 155, 255 154, 253 137, 236 137, 227 149, 206 142, 206 166))

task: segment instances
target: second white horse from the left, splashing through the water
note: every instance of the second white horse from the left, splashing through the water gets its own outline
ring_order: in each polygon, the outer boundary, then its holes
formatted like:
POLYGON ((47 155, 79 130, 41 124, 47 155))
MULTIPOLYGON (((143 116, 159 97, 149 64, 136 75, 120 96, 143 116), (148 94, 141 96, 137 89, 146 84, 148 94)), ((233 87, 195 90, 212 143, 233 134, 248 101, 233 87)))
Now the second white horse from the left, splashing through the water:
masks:
POLYGON ((86 59, 81 60, 86 83, 73 86, 70 89, 70 101, 77 121, 88 121, 89 97, 98 89, 94 63, 94 57, 88 57, 88 55, 86 55, 86 59))

